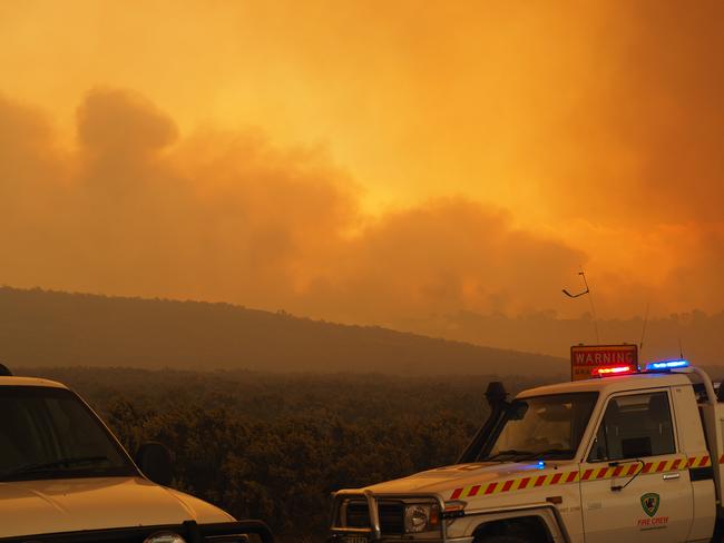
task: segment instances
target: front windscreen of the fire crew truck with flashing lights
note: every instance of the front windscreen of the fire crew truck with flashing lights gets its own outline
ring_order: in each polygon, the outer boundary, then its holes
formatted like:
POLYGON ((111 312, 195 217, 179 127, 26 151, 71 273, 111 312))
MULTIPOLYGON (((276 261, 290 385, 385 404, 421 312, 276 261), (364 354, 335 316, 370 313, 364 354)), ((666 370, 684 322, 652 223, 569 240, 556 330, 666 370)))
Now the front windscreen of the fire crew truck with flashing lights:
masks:
POLYGON ((598 393, 513 399, 485 460, 570 460, 594 411, 598 393))

